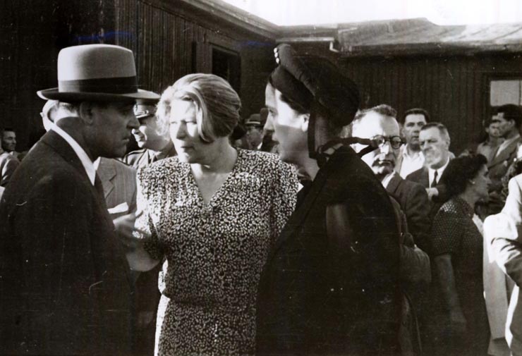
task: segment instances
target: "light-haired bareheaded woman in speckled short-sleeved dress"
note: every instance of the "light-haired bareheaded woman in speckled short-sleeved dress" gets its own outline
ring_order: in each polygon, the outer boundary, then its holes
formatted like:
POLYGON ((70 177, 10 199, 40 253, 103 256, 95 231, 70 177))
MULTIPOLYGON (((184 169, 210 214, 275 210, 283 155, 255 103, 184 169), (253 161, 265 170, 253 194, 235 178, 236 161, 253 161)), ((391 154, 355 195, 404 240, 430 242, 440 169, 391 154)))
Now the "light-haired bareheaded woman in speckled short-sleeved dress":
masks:
MULTIPOLYGON (((296 173, 273 154, 234 149, 241 102, 226 80, 191 74, 162 94, 178 156, 138 171, 130 266, 168 262, 158 355, 253 355, 262 266, 293 211, 296 173)), ((161 316, 161 315, 160 315, 161 316)))

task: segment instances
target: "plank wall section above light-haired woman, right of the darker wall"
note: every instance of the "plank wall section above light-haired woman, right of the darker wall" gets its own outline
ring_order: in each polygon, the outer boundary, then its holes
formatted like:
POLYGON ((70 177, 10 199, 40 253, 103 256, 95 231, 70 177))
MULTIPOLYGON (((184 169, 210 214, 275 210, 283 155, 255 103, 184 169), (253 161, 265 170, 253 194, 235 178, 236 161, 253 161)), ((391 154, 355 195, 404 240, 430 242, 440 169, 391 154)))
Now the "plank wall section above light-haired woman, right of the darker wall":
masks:
POLYGON ((266 78, 275 66, 272 40, 219 27, 219 21, 198 23, 161 1, 114 0, 114 8, 121 34, 115 43, 135 52, 142 88, 161 93, 183 75, 211 73, 214 44, 241 57, 242 116, 264 105, 266 78))

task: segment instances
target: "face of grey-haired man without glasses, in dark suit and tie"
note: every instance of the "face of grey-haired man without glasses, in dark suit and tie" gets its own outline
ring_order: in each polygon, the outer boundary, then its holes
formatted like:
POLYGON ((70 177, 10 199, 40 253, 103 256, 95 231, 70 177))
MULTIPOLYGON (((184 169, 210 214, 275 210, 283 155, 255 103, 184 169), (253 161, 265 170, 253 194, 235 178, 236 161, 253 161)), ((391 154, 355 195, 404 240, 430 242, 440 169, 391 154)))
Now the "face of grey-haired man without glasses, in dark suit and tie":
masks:
POLYGON ((420 131, 419 142, 426 166, 437 169, 446 164, 449 157, 449 140, 438 128, 420 131))

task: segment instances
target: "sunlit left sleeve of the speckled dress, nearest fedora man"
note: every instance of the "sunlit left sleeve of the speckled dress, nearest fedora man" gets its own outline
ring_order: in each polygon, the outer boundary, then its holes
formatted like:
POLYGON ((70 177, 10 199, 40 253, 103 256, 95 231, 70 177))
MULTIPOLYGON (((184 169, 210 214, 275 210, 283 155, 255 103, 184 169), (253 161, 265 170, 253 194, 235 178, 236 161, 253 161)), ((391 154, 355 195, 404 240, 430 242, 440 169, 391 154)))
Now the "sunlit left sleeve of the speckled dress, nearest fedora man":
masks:
POLYGON ((161 261, 164 255, 162 244, 159 242, 157 230, 152 221, 152 210, 154 206, 150 202, 150 188, 152 188, 151 180, 147 177, 147 171, 140 168, 136 174, 136 218, 134 232, 135 237, 145 238, 145 235, 150 235, 150 238, 145 240, 144 248, 150 254, 150 257, 161 261), (143 233, 141 233, 141 231, 143 233))

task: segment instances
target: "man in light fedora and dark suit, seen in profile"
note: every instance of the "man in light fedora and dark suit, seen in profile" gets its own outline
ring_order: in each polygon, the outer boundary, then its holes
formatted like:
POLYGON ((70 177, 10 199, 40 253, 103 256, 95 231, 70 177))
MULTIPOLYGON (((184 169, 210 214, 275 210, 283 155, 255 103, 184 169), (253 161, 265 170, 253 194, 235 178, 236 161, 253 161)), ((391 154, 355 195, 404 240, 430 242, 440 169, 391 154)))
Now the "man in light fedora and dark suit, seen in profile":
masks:
POLYGON ((93 161, 120 157, 138 127, 132 51, 62 49, 51 130, 0 202, 0 353, 128 355, 129 269, 93 161))

